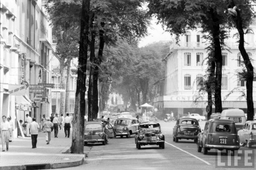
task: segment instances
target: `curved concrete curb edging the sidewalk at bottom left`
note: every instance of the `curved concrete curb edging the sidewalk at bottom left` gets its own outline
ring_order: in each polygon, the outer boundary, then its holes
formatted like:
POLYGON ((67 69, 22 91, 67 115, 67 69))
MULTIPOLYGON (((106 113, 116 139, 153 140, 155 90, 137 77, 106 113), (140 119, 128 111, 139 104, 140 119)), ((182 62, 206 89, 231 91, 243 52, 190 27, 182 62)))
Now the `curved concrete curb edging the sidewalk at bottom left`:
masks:
POLYGON ((61 163, 51 163, 51 164, 24 164, 24 165, 13 165, 13 166, 2 166, 0 170, 26 170, 27 167, 40 166, 40 169, 56 169, 56 168, 66 168, 66 167, 76 167, 83 164, 85 156, 79 156, 79 161, 71 162, 61 162, 61 163))

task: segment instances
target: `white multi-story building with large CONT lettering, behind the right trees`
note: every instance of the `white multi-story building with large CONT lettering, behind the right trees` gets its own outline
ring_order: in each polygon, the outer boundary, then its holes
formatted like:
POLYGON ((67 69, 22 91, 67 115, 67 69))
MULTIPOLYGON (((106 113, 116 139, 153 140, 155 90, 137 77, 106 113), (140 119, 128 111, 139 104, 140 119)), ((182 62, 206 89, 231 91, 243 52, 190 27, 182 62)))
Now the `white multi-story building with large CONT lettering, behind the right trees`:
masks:
MULTIPOLYGON (((251 28, 252 31, 244 36, 247 54, 252 58, 256 56, 256 21, 253 22, 251 28)), ((245 81, 237 76, 238 71, 242 69, 242 56, 238 49, 238 39, 233 37, 236 32, 236 30, 230 31, 230 37, 224 40, 228 50, 222 50, 222 107, 223 109, 241 108, 246 113, 246 98, 241 97, 242 92, 246 93, 246 85, 245 81), (231 91, 233 93, 230 94, 231 91)), ((188 112, 206 114, 207 93, 198 102, 194 101, 203 85, 204 81, 201 80, 204 80, 206 74, 207 45, 200 30, 193 30, 187 31, 180 37, 179 45, 174 41, 170 46, 169 53, 163 59, 165 77, 155 83, 154 106, 160 108, 163 115, 171 111, 177 117, 188 112)), ((252 63, 256 65, 253 60, 252 63)), ((256 88, 253 87, 253 91, 255 90, 256 88)), ((256 105, 256 94, 253 94, 253 100, 256 105)), ((214 109, 213 105, 213 112, 214 109)))

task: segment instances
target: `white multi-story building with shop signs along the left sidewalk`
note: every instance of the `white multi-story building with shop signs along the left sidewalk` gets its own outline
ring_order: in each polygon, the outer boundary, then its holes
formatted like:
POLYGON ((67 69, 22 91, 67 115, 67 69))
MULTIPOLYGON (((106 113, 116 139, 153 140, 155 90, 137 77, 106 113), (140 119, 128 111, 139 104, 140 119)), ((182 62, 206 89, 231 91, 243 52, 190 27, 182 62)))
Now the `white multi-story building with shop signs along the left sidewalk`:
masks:
POLYGON ((51 88, 29 86, 51 81, 52 31, 41 0, 1 0, 0 9, 0 117, 12 117, 16 133, 27 113, 37 122, 51 114, 51 88))

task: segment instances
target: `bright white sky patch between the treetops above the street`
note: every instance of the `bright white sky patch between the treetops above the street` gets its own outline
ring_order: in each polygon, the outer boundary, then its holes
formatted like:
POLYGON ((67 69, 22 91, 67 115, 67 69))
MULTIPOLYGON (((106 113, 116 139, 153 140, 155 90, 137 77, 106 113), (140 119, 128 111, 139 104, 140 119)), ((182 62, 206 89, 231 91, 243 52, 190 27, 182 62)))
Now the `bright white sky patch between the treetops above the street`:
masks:
POLYGON ((172 40, 172 36, 170 33, 164 31, 161 24, 157 24, 157 19, 153 17, 151 20, 151 28, 148 27, 148 36, 140 40, 139 47, 144 47, 147 44, 163 40, 172 40))

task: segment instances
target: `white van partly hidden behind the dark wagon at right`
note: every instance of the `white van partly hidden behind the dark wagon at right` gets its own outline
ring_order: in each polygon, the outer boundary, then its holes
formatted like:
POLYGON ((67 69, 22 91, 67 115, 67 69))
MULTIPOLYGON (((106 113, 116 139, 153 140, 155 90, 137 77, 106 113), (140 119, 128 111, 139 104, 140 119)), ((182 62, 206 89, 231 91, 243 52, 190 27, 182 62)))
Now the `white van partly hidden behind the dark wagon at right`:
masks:
POLYGON ((226 109, 221 112, 221 119, 233 120, 236 124, 236 130, 243 128, 246 118, 244 111, 241 109, 226 109))

